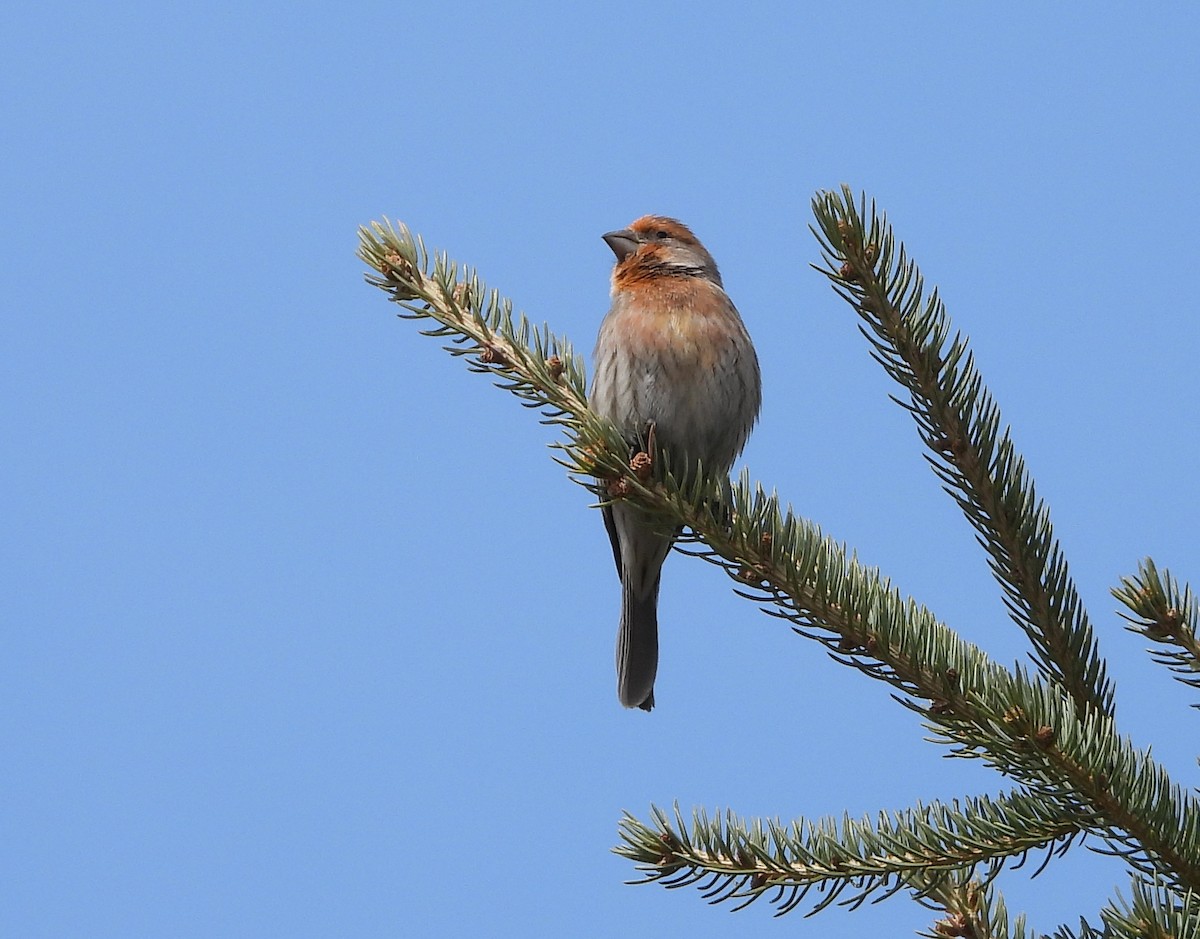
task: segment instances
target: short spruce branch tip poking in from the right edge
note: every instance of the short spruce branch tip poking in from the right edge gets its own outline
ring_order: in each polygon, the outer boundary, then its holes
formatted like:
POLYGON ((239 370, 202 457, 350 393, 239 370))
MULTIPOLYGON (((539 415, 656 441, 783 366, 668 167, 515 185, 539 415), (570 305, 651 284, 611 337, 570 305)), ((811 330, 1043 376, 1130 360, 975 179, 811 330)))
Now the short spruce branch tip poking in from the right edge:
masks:
MULTIPOLYGON (((1151 656, 1165 665, 1175 678, 1192 688, 1200 688, 1200 640, 1196 639, 1196 597, 1187 584, 1180 582, 1169 570, 1159 573, 1148 557, 1138 567, 1132 578, 1122 578, 1121 586, 1114 587, 1112 596, 1123 603, 1133 616, 1128 620, 1130 632, 1146 636, 1159 646, 1151 656)), ((1193 705, 1198 707, 1200 705, 1193 705)))

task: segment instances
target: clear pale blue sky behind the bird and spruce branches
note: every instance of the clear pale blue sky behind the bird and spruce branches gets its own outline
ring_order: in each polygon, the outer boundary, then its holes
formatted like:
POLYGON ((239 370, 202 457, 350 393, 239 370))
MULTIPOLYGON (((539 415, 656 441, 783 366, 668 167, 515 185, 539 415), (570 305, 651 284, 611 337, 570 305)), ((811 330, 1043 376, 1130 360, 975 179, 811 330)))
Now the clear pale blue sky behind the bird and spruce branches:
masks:
MULTIPOLYGON (((1194 695, 1108 588, 1200 580, 1190 5, 151 4, 0 28, 0 933, 904 934, 624 886, 622 809, 995 793, 882 687, 668 561, 659 707, 551 429, 392 315, 388 215, 590 351, 600 234, 686 221, 756 341, 767 486, 1024 654, 856 323, 815 190, 888 211, 1014 425, 1117 681, 1195 783, 1194 695)), ((1003 881, 1050 929, 1120 865, 1003 881)))

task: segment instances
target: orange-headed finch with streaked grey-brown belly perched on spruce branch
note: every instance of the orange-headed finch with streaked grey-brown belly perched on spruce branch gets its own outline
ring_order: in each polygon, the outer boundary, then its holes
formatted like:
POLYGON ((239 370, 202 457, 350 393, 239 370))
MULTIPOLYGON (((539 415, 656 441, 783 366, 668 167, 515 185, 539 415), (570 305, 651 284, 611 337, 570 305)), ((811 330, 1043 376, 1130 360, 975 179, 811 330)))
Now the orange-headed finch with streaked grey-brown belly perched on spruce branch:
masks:
MULTIPOLYGON (((677 219, 646 215, 608 232, 612 305, 600 324, 588 396, 630 454, 655 450, 677 474, 696 462, 728 474, 758 419, 762 378, 750 334, 725 293, 716 262, 677 219)), ((617 698, 654 707, 659 580, 674 536, 635 506, 604 508, 620 576, 617 698)))

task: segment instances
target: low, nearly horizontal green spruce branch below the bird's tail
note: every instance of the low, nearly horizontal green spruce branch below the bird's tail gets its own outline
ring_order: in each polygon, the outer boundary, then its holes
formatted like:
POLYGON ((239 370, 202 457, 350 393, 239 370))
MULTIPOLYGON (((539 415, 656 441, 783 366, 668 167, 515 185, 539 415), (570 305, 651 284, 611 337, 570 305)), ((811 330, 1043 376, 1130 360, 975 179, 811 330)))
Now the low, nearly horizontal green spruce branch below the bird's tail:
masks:
POLYGON ((1064 819, 1054 803, 1020 793, 918 805, 874 820, 791 825, 702 811, 689 824, 678 806, 673 818, 656 807, 650 812, 650 825, 626 814, 619 829, 624 843, 613 849, 643 874, 634 883, 698 885, 709 902, 736 901, 736 909, 767 897, 776 915, 796 909, 814 890, 810 913, 834 902, 857 907, 905 887, 918 897, 961 899, 977 868, 984 871, 977 883, 990 881, 1031 851, 1044 849, 1048 859, 1063 854, 1080 832, 1079 820, 1064 819), (953 890, 950 874, 958 884, 953 890))

